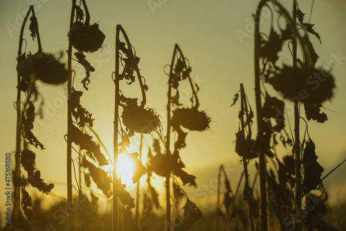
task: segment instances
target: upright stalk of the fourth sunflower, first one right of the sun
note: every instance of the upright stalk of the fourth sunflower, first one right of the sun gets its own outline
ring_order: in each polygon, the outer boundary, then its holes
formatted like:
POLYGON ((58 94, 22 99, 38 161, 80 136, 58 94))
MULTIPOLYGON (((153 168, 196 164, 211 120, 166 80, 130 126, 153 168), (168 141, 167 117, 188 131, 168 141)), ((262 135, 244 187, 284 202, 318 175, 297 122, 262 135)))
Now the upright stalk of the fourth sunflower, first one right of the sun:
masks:
POLYGON ((171 203, 170 203, 170 135, 171 135, 171 103, 172 103, 172 71, 173 71, 173 65, 174 60, 176 56, 178 44, 175 44, 174 46, 174 52, 170 67, 170 75, 168 78, 168 92, 167 92, 167 140, 166 140, 166 169, 167 169, 167 176, 166 176, 166 231, 170 231, 170 218, 171 218, 171 203))

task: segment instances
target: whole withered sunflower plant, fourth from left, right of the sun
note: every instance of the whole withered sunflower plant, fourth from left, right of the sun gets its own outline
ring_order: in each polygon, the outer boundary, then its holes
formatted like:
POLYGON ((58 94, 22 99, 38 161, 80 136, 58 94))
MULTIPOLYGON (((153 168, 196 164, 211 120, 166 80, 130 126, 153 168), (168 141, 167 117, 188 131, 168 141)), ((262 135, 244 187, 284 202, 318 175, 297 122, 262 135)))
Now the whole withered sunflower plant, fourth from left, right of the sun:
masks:
MULTIPOLYGON (((172 228, 170 215, 170 200, 172 198, 170 190, 171 174, 180 178, 183 185, 197 187, 195 182, 196 177, 183 171, 185 164, 183 164, 179 155, 181 148, 185 148, 186 146, 185 138, 186 135, 188 135, 188 132, 185 132, 184 129, 203 131, 209 128, 210 123, 210 117, 208 117, 206 112, 198 110, 199 101, 197 98, 196 89, 198 91, 199 87, 190 77, 191 71, 192 69, 187 64, 187 60, 184 58, 181 49, 179 48, 178 44, 175 44, 172 62, 170 65, 170 73, 168 74, 167 136, 165 141, 163 141, 161 138, 161 142, 163 142, 165 145, 165 154, 161 152, 160 141, 158 139, 154 139, 153 148, 156 155, 149 155, 148 157, 148 171, 152 171, 158 174, 158 176, 163 176, 166 178, 166 230, 170 230, 172 228), (188 80, 190 83, 192 91, 190 106, 183 105, 184 102, 179 99, 179 83, 182 80, 188 80), (170 151, 171 132, 176 132, 177 135, 177 139, 174 141, 173 152, 170 151)), ((172 182, 172 184, 174 186, 174 182, 172 182)), ((177 189, 177 187, 173 187, 173 189, 177 189)), ((190 200, 187 197, 187 203, 190 203, 189 201, 190 200)), ((191 228, 193 223, 195 223, 201 217, 198 207, 196 207, 194 212, 196 213, 194 214, 196 216, 193 216, 193 218, 188 220, 184 219, 181 221, 182 223, 179 225, 179 227, 175 227, 175 229, 191 228)), ((176 219, 180 219, 179 212, 176 219)))

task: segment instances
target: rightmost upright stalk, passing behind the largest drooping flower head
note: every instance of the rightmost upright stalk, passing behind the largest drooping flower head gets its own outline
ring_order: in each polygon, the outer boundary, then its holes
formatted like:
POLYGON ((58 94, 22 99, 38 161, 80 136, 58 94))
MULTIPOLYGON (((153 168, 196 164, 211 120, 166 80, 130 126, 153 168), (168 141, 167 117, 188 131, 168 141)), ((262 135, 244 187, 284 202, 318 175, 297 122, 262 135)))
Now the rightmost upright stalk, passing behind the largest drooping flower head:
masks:
MULTIPOLYGON (((293 0, 293 22, 297 20, 297 0, 293 0)), ((297 68, 297 37, 293 34, 293 68, 297 68)), ((299 102, 297 100, 294 101, 294 133, 295 133, 295 176, 296 176, 296 192, 295 192, 295 200, 296 203, 296 212, 295 212, 295 221, 297 225, 297 230, 302 230, 302 224, 300 221, 300 210, 302 207, 302 182, 301 182, 301 174, 300 174, 300 129, 299 129, 299 120, 300 120, 300 112, 299 112, 299 102)))

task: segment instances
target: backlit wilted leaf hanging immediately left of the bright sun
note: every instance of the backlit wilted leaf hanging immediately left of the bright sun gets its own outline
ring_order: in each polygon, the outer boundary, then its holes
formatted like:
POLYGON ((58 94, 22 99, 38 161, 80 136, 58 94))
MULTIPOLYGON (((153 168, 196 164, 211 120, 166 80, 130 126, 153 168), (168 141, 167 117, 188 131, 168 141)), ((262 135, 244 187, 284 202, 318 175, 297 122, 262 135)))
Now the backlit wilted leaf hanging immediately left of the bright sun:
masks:
POLYGON ((82 166, 89 169, 90 176, 93 178, 93 182, 95 182, 98 189, 101 189, 105 196, 110 196, 109 190, 111 189, 111 178, 109 178, 107 172, 96 167, 86 159, 83 159, 82 166))

